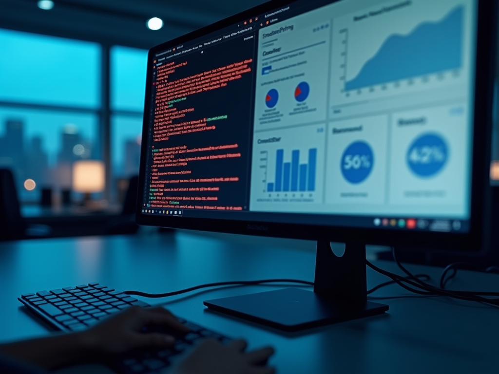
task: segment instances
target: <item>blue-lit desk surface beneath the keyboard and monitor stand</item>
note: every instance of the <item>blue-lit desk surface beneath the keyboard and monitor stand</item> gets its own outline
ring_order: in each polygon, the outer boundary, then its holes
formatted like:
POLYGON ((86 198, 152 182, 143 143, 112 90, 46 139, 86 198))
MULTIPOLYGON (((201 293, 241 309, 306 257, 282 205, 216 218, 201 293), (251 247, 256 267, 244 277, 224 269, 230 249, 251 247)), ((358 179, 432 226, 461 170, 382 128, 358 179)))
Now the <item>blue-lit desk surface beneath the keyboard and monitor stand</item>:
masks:
MULTIPOLYGON (((310 241, 177 232, 45 239, 0 244, 0 342, 47 335, 16 300, 22 293, 99 282, 118 290, 159 293, 202 283, 264 278, 313 280, 310 241)), ((378 262, 396 271, 393 263, 378 262)), ((439 279, 441 269, 409 266, 439 279)), ((367 269, 371 288, 386 278, 367 269)), ((499 276, 459 272, 450 287, 497 291, 499 276)), ((207 311, 203 301, 275 289, 228 287, 155 299, 175 314, 250 347, 272 345, 279 373, 497 373, 499 308, 413 296, 388 286, 372 299, 383 316, 284 335, 207 311), (389 298, 396 297, 396 298, 389 298)))

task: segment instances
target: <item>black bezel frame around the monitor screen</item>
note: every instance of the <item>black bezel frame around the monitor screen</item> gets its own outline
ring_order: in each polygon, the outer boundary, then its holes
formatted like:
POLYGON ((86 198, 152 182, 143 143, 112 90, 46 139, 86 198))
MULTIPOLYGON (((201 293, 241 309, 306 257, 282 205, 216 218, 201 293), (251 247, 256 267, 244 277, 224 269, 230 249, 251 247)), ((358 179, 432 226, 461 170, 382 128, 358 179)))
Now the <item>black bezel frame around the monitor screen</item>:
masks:
MULTIPOLYGON (((337 2, 330 1, 330 3, 337 2)), ((245 10, 236 15, 220 20, 173 40, 152 47, 148 53, 146 95, 144 105, 142 144, 148 144, 148 126, 150 95, 152 87, 152 66, 154 54, 203 37, 225 27, 296 1, 271 0, 245 10)), ((318 1, 322 4, 324 1, 318 1)), ((274 223, 252 220, 234 220, 218 218, 193 218, 175 216, 157 216, 142 214, 142 196, 145 181, 146 147, 141 149, 139 172, 139 191, 136 207, 136 222, 139 225, 215 231, 247 235, 274 236, 297 239, 326 239, 338 242, 359 242, 379 245, 403 245, 404 247, 436 247, 440 249, 479 251, 482 246, 484 222, 488 209, 484 204, 488 195, 490 167, 490 134, 492 129, 492 107, 496 61, 496 1, 478 1, 477 44, 475 62, 475 107, 474 107, 474 139, 471 185, 470 231, 467 233, 408 231, 383 228, 358 228, 342 226, 322 226, 290 223, 274 223)))

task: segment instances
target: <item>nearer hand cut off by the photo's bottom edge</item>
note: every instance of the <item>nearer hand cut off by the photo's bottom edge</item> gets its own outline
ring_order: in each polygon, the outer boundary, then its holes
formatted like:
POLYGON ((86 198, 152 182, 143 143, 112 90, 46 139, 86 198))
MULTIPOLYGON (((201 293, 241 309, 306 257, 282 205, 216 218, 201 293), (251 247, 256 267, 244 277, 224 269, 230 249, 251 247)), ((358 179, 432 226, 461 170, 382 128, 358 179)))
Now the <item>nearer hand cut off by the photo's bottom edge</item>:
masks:
POLYGON ((181 362, 175 374, 273 374, 274 369, 266 366, 274 350, 265 347, 245 352, 247 343, 236 340, 224 346, 216 340, 201 343, 181 362))

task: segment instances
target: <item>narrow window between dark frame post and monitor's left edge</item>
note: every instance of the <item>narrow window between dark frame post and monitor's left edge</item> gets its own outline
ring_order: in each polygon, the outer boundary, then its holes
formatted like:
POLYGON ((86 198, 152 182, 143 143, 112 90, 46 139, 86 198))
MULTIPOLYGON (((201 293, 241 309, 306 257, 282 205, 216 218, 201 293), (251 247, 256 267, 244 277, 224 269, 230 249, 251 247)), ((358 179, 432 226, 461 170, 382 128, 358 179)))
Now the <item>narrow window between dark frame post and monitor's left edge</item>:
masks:
POLYGON ((139 173, 147 50, 111 48, 111 186, 122 199, 127 180, 139 173))

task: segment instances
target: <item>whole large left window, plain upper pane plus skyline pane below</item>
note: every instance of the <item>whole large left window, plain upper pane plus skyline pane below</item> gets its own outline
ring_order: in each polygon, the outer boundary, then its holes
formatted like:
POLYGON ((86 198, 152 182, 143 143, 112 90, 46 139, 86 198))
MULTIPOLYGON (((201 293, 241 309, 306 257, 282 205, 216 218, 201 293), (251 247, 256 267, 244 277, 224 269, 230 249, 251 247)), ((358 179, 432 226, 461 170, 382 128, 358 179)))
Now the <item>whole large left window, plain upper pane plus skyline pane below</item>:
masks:
POLYGON ((57 200, 74 161, 101 158, 100 64, 98 43, 0 29, 0 168, 21 202, 57 200))

